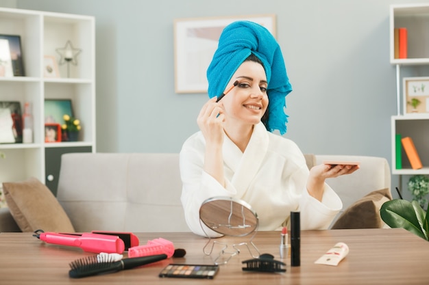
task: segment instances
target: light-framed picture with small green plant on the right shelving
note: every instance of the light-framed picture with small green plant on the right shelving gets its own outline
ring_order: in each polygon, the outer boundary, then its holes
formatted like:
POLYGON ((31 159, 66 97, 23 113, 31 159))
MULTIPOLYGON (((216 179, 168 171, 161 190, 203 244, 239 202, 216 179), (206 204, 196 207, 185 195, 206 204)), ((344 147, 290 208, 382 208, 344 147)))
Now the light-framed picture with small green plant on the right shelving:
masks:
POLYGON ((404 77, 404 115, 429 113, 429 77, 404 77))

